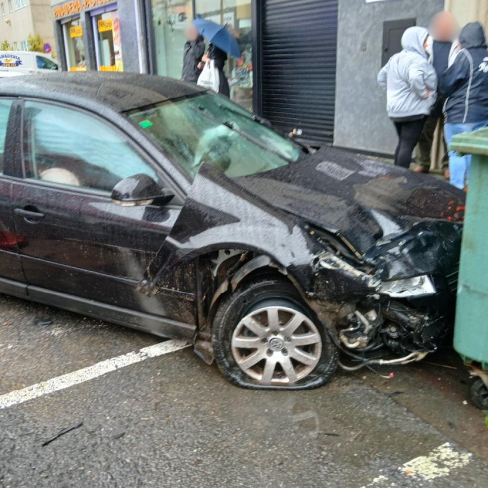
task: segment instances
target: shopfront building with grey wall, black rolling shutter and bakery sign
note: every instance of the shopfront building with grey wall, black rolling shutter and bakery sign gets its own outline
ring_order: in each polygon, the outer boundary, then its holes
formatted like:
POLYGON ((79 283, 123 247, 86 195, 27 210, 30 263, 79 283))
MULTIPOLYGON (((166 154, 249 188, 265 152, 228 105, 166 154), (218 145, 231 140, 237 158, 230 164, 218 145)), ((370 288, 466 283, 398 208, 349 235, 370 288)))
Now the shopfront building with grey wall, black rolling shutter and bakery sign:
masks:
MULTIPOLYGON (((450 3, 464 11, 461 4, 477 1, 450 3)), ((307 143, 389 155, 397 136, 377 73, 401 50, 406 28, 428 26, 445 7, 445 0, 51 2, 65 70, 179 79, 185 25, 211 19, 227 26, 242 52, 225 68, 234 101, 284 132, 298 129, 307 143)))

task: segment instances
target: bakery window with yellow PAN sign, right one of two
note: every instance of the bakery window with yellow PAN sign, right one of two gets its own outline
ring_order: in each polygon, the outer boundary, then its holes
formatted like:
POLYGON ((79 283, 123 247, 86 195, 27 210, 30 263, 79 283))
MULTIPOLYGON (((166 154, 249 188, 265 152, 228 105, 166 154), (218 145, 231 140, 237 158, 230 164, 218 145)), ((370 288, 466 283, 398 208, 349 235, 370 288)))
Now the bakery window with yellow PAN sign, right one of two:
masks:
POLYGON ((123 71, 118 10, 100 13, 92 18, 97 41, 98 70, 123 71))

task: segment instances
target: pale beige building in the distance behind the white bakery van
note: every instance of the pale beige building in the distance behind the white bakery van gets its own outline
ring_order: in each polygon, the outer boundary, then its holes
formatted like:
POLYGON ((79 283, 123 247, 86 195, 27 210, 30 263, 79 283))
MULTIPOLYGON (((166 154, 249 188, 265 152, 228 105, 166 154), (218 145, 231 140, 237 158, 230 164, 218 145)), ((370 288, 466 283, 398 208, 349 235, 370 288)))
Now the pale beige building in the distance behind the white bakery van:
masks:
POLYGON ((39 33, 56 56, 49 0, 0 0, 0 42, 14 51, 27 51, 29 34, 39 33))

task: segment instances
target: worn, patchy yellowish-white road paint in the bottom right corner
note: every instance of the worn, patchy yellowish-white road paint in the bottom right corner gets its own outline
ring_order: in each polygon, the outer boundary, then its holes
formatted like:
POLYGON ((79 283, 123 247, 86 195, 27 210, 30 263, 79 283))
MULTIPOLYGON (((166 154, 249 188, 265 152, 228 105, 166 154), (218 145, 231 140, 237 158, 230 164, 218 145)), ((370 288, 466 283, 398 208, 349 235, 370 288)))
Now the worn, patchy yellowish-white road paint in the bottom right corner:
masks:
MULTIPOLYGON (((419 481, 431 481, 441 476, 447 476, 452 470, 467 465, 471 457, 472 454, 456 451, 449 442, 446 442, 436 447, 427 456, 419 456, 408 461, 399 470, 419 481)), ((395 482, 389 481, 388 476, 380 475, 361 488, 396 488, 399 486, 395 482)))

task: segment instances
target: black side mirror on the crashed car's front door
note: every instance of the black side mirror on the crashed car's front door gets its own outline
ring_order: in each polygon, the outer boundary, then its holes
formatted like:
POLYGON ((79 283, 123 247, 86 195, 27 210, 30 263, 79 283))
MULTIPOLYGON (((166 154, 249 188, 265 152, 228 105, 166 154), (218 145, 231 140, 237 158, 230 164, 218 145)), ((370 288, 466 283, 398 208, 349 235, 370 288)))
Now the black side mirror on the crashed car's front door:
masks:
POLYGON ((173 196, 175 195, 171 190, 168 188, 161 190, 150 176, 143 173, 119 181, 112 190, 113 203, 123 207, 150 205, 151 203, 163 205, 168 203, 173 196))

